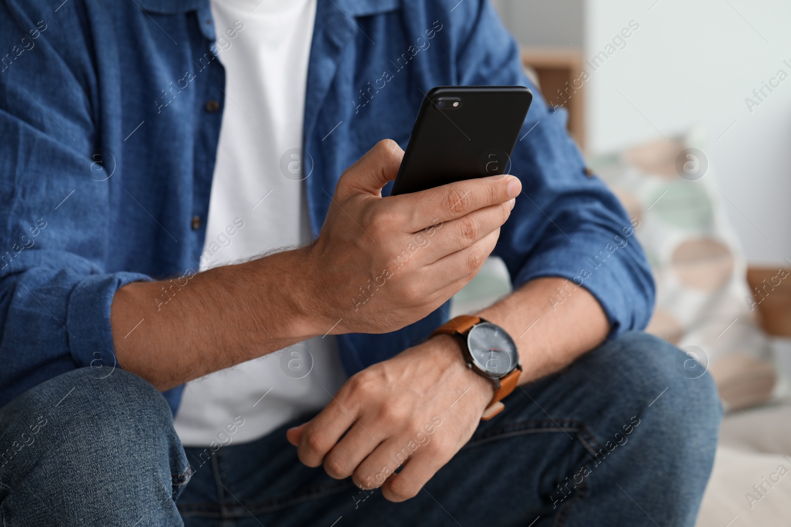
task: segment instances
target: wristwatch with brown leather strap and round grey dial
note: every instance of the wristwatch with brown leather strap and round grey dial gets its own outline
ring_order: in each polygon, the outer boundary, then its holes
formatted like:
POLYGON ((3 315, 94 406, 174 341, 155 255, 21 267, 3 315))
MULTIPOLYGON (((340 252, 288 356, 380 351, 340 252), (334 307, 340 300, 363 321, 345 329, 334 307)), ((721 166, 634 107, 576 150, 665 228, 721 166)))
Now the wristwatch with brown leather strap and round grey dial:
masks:
POLYGON ((517 344, 505 329, 467 314, 434 329, 431 337, 443 333, 459 339, 467 367, 494 385, 494 397, 481 416, 484 421, 490 420, 505 408, 501 399, 513 392, 522 373, 517 344))

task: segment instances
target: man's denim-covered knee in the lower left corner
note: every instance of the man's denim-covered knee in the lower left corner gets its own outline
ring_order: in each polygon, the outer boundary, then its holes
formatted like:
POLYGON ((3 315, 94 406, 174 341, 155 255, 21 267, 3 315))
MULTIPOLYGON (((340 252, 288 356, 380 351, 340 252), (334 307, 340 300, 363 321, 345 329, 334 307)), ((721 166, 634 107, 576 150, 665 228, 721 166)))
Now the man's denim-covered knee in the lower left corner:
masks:
POLYGON ((79 508, 100 525, 141 516, 157 525, 178 521, 173 499, 191 471, 168 403, 137 375, 70 371, 11 401, 0 423, 0 435, 28 438, 0 465, 4 512, 30 514, 36 487, 53 510, 79 508))

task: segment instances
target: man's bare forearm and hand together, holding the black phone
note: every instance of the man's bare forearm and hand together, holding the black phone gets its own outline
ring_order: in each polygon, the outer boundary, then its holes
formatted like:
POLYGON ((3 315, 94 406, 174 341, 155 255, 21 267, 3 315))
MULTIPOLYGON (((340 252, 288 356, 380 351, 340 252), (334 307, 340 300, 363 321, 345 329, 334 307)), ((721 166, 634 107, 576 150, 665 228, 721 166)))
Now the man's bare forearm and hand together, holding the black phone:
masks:
POLYGON ((382 198, 402 156, 382 141, 346 170, 308 247, 119 288, 119 367, 168 390, 327 330, 386 333, 437 309, 494 249, 521 186, 506 175, 382 198))

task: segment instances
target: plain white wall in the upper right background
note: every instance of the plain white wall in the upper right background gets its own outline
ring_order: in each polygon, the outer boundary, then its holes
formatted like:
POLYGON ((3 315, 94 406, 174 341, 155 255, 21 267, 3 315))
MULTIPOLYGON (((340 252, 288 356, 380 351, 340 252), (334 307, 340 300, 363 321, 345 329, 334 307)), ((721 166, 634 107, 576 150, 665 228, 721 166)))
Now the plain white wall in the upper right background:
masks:
POLYGON ((791 2, 655 2, 587 0, 586 58, 640 24, 587 82, 589 150, 703 126, 710 174, 732 202, 748 260, 791 258, 791 77, 752 112, 744 101, 778 70, 791 75, 791 2))

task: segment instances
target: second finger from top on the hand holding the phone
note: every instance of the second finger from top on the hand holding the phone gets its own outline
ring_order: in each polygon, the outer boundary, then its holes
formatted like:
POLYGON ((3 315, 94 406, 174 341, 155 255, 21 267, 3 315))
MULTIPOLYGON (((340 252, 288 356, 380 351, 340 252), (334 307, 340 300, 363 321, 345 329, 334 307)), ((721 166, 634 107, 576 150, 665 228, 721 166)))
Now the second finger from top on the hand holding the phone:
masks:
MULTIPOLYGON (((499 205, 490 205, 483 209, 450 220, 436 229, 436 233, 429 236, 423 235, 426 250, 422 251, 421 262, 432 264, 440 258, 453 254, 458 250, 466 249, 472 244, 494 232, 508 220, 513 209, 515 198, 499 205)), ((422 233, 418 233, 420 235, 422 233)))

